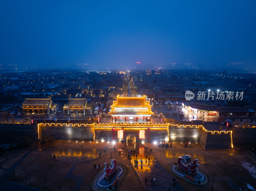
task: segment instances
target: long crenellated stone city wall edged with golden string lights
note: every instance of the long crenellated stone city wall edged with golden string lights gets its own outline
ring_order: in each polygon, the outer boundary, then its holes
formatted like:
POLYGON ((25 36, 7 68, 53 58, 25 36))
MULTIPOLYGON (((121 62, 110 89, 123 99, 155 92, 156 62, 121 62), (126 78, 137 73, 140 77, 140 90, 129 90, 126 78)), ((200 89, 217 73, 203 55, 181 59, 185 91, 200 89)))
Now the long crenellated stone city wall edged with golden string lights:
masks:
POLYGON ((201 125, 171 125, 171 124, 67 124, 67 123, 39 123, 38 125, 27 124, 0 124, 0 138, 4 142, 9 140, 24 140, 24 137, 33 137, 34 140, 42 139, 50 135, 56 140, 106 141, 114 139, 125 141, 131 135, 136 141, 153 142, 200 142, 205 149, 227 149, 233 145, 248 145, 255 143, 256 128, 233 128, 231 131, 208 131, 201 125), (95 125, 95 127, 94 127, 95 125), (148 128, 149 135, 148 135, 148 128), (123 129, 123 138, 117 137, 117 130, 123 129), (140 139, 139 130, 145 130, 145 139, 140 139))

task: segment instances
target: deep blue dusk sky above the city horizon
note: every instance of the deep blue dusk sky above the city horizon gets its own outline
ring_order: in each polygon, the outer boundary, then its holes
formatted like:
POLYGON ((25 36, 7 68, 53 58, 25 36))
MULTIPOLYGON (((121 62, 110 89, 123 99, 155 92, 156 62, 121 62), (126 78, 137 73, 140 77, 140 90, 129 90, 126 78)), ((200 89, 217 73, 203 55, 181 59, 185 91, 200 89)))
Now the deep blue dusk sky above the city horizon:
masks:
POLYGON ((2 1, 0 61, 20 67, 256 66, 255 5, 255 0, 2 1))

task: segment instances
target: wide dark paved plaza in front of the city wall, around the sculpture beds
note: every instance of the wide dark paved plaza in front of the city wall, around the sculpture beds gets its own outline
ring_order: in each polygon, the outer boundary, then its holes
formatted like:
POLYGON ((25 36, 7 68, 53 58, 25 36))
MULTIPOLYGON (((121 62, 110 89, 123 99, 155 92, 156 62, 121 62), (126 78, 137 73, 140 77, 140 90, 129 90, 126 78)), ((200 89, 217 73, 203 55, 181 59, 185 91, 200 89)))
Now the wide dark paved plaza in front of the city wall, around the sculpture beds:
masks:
POLYGON ((127 166, 129 170, 117 189, 120 191, 168 190, 169 186, 172 187, 172 191, 211 190, 213 172, 213 190, 236 191, 239 187, 248 191, 252 190, 248 187, 256 189, 255 157, 249 151, 239 150, 239 148, 204 150, 200 143, 188 144, 185 149, 184 143, 180 142, 172 143, 172 148, 162 148, 158 147, 158 143, 82 141, 56 141, 53 145, 34 145, 30 150, 5 152, 0 156, 0 188, 1 190, 6 190, 6 187, 10 190, 17 187, 20 187, 20 190, 32 191, 33 188, 44 190, 44 179, 46 179, 47 190, 58 190, 60 186, 62 190, 89 190, 90 182, 97 173, 97 170, 93 169, 93 164, 104 168, 104 163, 109 163, 111 156, 118 163, 127 166), (107 145, 108 150, 105 152, 104 147, 107 145), (123 146, 124 149, 122 149, 123 146), (131 159, 128 159, 128 150, 132 151, 131 159), (99 151, 102 153, 100 157, 99 151), (119 151, 121 151, 120 154, 119 151), (198 168, 210 177, 208 185, 197 187, 179 178, 177 178, 178 184, 173 184, 174 176, 167 171, 167 165, 177 162, 178 157, 185 153, 191 156, 191 161, 188 163, 198 159, 200 164, 198 168), (134 165, 136 154, 139 161, 138 167, 134 165), (148 158, 150 158, 149 165, 148 158), (142 159, 142 166, 140 159, 142 159), (29 186, 28 174, 31 175, 31 186, 29 186), (243 176, 237 176, 237 174, 243 174, 243 176), (152 185, 151 179, 154 177, 156 183, 152 185), (147 184, 145 184, 145 178, 147 178, 147 184), (29 186, 29 189, 26 189, 26 186, 29 186))

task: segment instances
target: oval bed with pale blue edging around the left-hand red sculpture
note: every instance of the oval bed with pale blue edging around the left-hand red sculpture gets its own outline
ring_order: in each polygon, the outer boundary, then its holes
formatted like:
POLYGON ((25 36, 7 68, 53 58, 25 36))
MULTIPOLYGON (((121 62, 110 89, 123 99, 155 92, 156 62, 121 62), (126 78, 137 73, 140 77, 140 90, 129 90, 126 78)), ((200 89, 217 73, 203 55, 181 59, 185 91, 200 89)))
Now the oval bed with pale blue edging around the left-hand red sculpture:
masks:
MULTIPOLYGON (((108 163, 108 166, 110 166, 110 163, 108 163)), ((109 176, 108 181, 104 178, 104 169, 105 166, 103 166, 97 174, 93 177, 90 187, 93 191, 108 191, 113 190, 113 184, 118 177, 118 181, 116 184, 116 187, 119 187, 125 176, 128 174, 128 168, 125 165, 122 165, 120 163, 116 163, 116 173, 114 172, 112 175, 109 176)))

